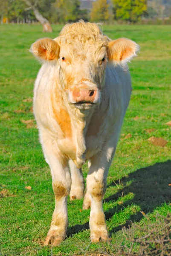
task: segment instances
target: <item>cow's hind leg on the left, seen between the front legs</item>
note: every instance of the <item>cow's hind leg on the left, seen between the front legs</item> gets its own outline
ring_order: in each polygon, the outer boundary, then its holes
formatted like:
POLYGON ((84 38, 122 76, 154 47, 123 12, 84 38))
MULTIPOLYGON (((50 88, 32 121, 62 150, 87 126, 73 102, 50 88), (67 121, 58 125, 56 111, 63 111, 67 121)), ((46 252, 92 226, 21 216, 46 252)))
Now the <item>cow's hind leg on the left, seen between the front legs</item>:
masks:
POLYGON ((83 198, 84 178, 83 178, 81 169, 78 169, 72 160, 69 161, 69 165, 70 165, 71 179, 72 179, 70 200, 72 201, 74 199, 83 198))

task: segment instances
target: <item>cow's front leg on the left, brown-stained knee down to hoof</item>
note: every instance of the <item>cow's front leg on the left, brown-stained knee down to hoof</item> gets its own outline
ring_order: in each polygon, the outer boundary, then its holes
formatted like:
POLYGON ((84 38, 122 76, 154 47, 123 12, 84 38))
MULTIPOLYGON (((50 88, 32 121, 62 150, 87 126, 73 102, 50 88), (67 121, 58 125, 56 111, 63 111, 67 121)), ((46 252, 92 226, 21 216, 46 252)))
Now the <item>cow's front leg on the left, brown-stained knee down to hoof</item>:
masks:
POLYGON ((44 244, 56 246, 64 240, 68 227, 67 198, 71 189, 71 175, 67 159, 58 159, 52 151, 46 157, 52 173, 52 187, 55 194, 55 210, 44 244))

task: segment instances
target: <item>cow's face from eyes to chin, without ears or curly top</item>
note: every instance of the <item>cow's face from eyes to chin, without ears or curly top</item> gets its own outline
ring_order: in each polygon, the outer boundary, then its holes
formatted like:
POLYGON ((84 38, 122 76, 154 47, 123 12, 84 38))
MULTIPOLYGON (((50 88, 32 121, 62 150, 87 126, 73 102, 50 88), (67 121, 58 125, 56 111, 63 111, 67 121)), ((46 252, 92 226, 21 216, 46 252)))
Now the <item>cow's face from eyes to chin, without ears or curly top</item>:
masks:
MULTIPOLYGON (((83 38, 84 40, 84 38, 83 38)), ((68 101, 79 109, 99 104, 104 86, 107 48, 103 42, 60 42, 60 82, 68 101)))

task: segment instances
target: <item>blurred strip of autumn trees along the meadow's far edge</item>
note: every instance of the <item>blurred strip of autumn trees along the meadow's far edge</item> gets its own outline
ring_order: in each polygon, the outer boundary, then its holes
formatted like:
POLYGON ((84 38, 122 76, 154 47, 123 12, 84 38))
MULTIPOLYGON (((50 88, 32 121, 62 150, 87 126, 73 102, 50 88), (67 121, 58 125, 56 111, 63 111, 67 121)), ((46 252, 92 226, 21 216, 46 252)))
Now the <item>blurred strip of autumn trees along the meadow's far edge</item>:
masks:
POLYGON ((79 19, 136 23, 171 19, 171 0, 0 0, 0 17, 1 24, 39 21, 44 31, 52 30, 50 23, 79 19))

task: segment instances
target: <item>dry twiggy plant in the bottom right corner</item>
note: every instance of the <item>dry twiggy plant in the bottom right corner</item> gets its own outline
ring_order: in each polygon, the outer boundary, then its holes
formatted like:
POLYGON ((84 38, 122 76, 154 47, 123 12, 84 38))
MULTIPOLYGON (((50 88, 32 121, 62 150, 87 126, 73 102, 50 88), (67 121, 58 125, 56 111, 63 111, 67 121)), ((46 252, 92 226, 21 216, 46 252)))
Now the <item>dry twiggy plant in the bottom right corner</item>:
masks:
POLYGON ((125 244, 121 246, 116 255, 171 255, 171 215, 167 215, 167 217, 164 218, 157 214, 155 217, 156 222, 153 224, 150 224, 150 218, 146 217, 147 224, 144 227, 133 224, 128 230, 123 228, 125 244), (139 230, 139 235, 142 236, 135 234, 135 228, 139 230))

